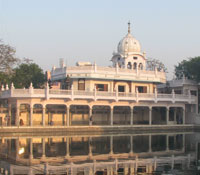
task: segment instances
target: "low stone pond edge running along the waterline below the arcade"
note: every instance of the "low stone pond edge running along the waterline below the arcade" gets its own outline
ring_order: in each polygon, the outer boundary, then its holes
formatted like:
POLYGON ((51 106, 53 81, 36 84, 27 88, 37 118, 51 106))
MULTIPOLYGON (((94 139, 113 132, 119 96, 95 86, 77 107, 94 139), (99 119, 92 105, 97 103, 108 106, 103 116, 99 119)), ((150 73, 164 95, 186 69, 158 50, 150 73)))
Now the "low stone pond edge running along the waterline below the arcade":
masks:
POLYGON ((105 135, 145 134, 169 132, 198 132, 200 125, 137 125, 137 126, 46 126, 46 127, 1 127, 0 136, 45 136, 45 135, 105 135))

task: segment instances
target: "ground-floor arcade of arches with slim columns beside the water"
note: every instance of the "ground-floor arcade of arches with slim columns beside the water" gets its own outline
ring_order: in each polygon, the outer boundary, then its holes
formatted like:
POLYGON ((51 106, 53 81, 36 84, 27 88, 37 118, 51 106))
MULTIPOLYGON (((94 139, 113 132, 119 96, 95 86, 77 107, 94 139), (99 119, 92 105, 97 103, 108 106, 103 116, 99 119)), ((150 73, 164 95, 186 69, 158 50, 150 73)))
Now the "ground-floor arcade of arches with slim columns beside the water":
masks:
MULTIPOLYGON (((156 105, 156 104, 155 104, 156 105)), ((20 104, 10 106, 7 125, 92 126, 185 124, 184 107, 20 104)))

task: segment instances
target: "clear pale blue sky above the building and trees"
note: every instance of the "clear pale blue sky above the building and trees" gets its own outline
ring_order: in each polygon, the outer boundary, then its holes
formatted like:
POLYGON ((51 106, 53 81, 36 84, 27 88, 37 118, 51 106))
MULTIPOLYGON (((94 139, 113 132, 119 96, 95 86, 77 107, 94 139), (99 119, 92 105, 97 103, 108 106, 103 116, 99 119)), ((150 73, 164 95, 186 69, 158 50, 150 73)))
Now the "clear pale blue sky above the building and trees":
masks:
POLYGON ((200 56, 199 9, 200 0, 0 0, 0 39, 44 71, 60 58, 109 66, 130 21, 147 58, 163 62, 171 79, 175 65, 200 56))

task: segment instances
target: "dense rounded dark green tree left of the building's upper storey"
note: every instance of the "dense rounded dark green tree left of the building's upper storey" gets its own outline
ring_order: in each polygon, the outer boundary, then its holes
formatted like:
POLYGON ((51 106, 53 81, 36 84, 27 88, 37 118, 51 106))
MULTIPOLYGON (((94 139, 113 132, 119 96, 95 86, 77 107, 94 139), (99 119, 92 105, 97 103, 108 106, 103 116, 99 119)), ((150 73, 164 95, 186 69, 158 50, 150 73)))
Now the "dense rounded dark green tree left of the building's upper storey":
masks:
POLYGON ((41 88, 46 79, 43 70, 35 63, 22 63, 14 69, 12 81, 16 88, 28 88, 33 83, 34 88, 41 88))

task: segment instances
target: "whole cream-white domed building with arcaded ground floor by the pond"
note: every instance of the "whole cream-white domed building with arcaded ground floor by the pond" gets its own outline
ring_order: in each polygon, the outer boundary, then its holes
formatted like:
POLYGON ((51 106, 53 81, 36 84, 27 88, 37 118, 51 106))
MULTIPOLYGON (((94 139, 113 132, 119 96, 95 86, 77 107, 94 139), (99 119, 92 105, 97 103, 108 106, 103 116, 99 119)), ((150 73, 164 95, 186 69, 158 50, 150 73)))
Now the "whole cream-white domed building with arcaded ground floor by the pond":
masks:
MULTIPOLYGON (((1 92, 8 104, 9 125, 119 126, 185 124, 185 105, 195 105, 191 94, 159 94, 165 72, 147 70, 146 54, 130 31, 113 53, 112 66, 77 62, 51 71, 51 82, 60 89, 15 89, 1 92)), ((3 103, 2 103, 3 104, 3 103)))

